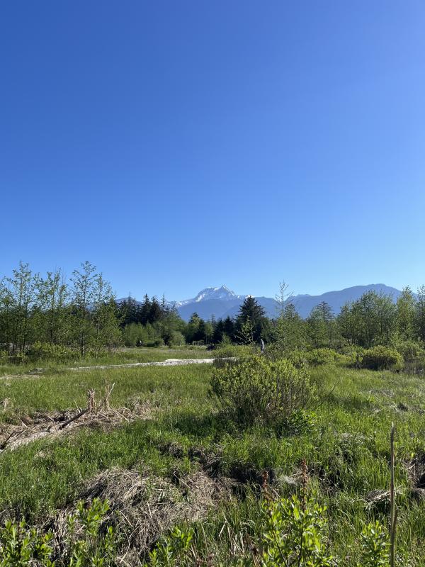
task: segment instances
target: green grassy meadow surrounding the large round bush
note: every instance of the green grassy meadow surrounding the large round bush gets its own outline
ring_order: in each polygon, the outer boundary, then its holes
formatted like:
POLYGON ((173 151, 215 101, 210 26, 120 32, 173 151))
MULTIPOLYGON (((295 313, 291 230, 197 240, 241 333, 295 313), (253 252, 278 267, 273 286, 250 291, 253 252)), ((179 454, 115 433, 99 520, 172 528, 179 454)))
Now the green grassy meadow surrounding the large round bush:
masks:
MULTIPOLYGON (((134 356, 148 354, 152 357, 150 352, 134 356)), ((164 358, 183 354, 183 349, 155 352, 164 358)), ((195 357, 194 352, 186 351, 186 357, 195 357)), ((210 554, 213 565, 226 565, 232 553, 248 553, 246 542, 261 530, 256 495, 261 472, 269 472, 279 493, 289 494, 294 490, 290 479, 306 459, 310 484, 328 507, 329 550, 339 565, 356 566, 363 524, 378 518, 387 525, 387 498, 374 502, 368 495, 390 485, 394 422, 399 564, 425 565, 425 503, 409 490, 407 472, 414 459, 420 466, 425 456, 423 379, 338 366, 312 369, 320 392, 314 425, 278 437, 223 419, 209 395, 212 371, 209 365, 78 373, 51 368, 46 375, 2 379, 0 430, 18 424, 22 416, 84 407, 89 388, 100 397, 106 383, 114 384, 111 408, 132 408, 138 400, 152 412, 115 427, 81 427, 67 436, 5 449, 0 454, 1 516, 45 522, 84 494, 98 473, 116 467, 180 487, 179 482, 202 472, 215 481, 226 479, 232 488, 196 520, 193 545, 201 558, 210 554)))

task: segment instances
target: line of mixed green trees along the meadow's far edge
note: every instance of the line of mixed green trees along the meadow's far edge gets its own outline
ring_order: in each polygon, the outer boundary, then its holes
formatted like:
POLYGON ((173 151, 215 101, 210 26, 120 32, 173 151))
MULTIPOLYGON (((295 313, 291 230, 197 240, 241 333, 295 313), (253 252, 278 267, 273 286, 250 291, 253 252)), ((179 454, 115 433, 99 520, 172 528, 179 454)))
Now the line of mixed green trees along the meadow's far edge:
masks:
POLYGON ((249 344, 262 339, 285 351, 425 344, 425 286, 417 293, 404 288, 397 301, 368 291, 338 314, 322 302, 305 319, 286 288, 280 287, 273 319, 247 296, 234 318, 203 320, 193 313, 185 322, 164 296, 161 301, 145 295, 141 303, 131 297, 117 303, 111 284, 90 262, 74 270, 69 282, 60 270, 42 277, 21 262, 0 281, 0 350, 23 355, 41 344, 74 349, 84 357, 121 344, 249 344))

